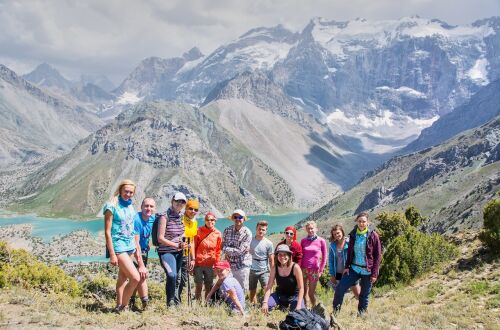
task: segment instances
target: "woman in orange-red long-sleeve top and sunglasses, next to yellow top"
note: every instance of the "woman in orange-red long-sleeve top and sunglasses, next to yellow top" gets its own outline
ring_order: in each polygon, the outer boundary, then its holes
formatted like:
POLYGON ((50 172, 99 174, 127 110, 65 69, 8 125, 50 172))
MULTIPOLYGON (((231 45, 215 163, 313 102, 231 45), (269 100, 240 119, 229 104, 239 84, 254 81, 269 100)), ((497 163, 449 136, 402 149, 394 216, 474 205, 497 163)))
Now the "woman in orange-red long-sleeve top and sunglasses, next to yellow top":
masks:
POLYGON ((222 234, 215 228, 217 217, 212 212, 205 215, 205 225, 198 228, 194 237, 195 299, 201 301, 202 285, 205 284, 205 300, 214 285, 214 265, 220 260, 222 234))

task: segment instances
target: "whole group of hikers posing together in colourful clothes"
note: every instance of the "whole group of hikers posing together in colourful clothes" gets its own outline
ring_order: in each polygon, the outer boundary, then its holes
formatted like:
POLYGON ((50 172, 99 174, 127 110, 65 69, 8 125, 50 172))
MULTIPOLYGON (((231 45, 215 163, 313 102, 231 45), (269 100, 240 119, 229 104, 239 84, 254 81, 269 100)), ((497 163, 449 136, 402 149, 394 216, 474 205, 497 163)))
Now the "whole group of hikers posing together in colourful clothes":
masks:
POLYGON ((308 221, 307 236, 300 243, 296 228, 288 226, 284 239, 274 248, 265 237, 267 221, 258 221, 252 235, 245 226, 243 210, 232 212, 233 225, 221 233, 215 228, 217 217, 212 212, 205 214, 204 224, 198 227, 199 201, 187 199, 182 192, 173 195, 166 212, 157 213, 155 201, 149 197, 144 198, 139 212, 134 209, 135 190, 133 181, 123 180, 103 208, 106 254, 110 263, 119 267, 114 312, 120 313, 127 306, 139 310, 136 295, 143 309, 148 305, 150 238, 166 274, 168 307, 181 303, 183 289, 190 289, 191 274, 194 299, 199 302, 220 300, 232 312, 245 316, 248 294, 250 304, 264 313, 274 308, 299 310, 307 304, 324 317, 323 305, 316 304, 315 291, 328 262, 335 287, 334 314, 340 311, 350 288, 359 299, 358 313, 366 312, 382 255, 380 239, 369 226, 367 213, 356 216, 356 226, 348 236, 342 225, 335 225, 329 246, 317 235, 316 223, 308 221), (259 283, 264 290, 260 305, 256 295, 259 283))

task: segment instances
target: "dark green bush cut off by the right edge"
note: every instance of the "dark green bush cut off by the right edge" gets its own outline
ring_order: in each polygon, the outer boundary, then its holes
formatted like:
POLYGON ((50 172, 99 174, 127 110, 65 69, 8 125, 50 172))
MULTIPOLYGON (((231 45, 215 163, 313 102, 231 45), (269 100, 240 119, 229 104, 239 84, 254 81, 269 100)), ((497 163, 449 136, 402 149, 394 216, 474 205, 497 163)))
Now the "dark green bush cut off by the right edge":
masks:
POLYGON ((500 198, 495 198, 484 207, 484 229, 479 238, 497 256, 500 251, 500 198))

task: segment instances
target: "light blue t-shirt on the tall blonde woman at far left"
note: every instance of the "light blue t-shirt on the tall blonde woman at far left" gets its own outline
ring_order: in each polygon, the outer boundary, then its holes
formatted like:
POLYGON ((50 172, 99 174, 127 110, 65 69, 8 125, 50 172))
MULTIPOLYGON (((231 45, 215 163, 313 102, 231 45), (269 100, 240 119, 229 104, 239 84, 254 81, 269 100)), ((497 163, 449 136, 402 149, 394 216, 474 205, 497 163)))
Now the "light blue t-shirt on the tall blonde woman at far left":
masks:
POLYGON ((111 241, 115 253, 132 251, 135 249, 134 217, 136 215, 132 204, 124 206, 119 202, 117 205, 106 203, 102 213, 110 211, 113 214, 111 222, 111 241))

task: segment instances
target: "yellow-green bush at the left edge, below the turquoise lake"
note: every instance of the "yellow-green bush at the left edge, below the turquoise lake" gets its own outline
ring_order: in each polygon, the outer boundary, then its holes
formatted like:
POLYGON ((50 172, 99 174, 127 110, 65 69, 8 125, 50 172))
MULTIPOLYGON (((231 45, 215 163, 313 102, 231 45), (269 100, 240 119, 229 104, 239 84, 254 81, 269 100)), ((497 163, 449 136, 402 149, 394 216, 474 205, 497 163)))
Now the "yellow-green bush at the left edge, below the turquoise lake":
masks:
POLYGON ((56 266, 47 266, 25 250, 10 249, 0 242, 0 287, 20 285, 75 297, 81 291, 76 280, 56 266))

